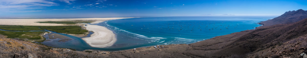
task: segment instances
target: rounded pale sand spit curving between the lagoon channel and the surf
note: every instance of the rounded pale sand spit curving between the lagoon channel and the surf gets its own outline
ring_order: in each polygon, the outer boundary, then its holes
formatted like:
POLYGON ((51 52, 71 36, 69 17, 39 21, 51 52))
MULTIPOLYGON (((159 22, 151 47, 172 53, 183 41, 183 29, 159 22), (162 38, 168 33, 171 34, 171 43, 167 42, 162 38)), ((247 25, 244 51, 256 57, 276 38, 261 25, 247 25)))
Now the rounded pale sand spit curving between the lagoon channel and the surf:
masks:
POLYGON ((86 29, 93 31, 91 37, 82 38, 88 45, 97 48, 104 48, 113 45, 116 42, 116 37, 113 31, 107 27, 87 24, 86 29))

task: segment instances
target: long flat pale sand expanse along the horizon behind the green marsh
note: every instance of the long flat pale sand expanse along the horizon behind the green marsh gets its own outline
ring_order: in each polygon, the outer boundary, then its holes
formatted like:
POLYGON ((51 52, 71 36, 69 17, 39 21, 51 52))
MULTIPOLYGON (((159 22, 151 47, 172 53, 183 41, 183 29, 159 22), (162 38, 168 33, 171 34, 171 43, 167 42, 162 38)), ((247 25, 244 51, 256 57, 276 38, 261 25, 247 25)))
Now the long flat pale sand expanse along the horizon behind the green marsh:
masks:
POLYGON ((64 26, 65 24, 35 23, 44 21, 72 21, 72 20, 96 20, 97 24, 105 20, 126 19, 126 18, 78 18, 78 19, 0 19, 0 25, 26 25, 26 26, 64 26))

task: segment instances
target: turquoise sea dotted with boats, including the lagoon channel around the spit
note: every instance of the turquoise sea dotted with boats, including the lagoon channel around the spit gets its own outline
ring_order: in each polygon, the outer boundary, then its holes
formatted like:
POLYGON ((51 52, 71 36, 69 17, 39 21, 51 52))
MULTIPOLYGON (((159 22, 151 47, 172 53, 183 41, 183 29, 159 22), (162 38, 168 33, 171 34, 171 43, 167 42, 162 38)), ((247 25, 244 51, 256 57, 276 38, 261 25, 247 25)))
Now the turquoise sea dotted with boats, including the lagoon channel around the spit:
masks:
POLYGON ((191 44, 215 36, 255 29, 253 27, 261 26, 256 23, 270 18, 169 16, 108 20, 95 25, 107 27, 116 34, 117 41, 110 47, 91 47, 81 38, 53 31, 50 32, 67 36, 72 40, 59 42, 60 39, 49 39, 47 34, 44 37, 51 41, 41 43, 56 48, 71 48, 79 51, 84 49, 119 51, 154 45, 191 44))

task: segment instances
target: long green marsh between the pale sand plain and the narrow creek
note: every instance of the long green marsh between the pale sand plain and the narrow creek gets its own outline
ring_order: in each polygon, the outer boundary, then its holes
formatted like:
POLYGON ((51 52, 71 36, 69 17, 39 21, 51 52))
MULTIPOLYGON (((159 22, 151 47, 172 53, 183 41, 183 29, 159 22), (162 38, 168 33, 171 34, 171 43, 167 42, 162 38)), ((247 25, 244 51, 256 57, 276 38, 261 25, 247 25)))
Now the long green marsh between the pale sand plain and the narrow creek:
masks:
MULTIPOLYGON (((16 25, 0 25, 0 29, 8 31, 55 31, 66 34, 85 34, 88 31, 80 26, 16 26, 16 25)), ((3 34, 5 35, 5 34, 3 34)))

